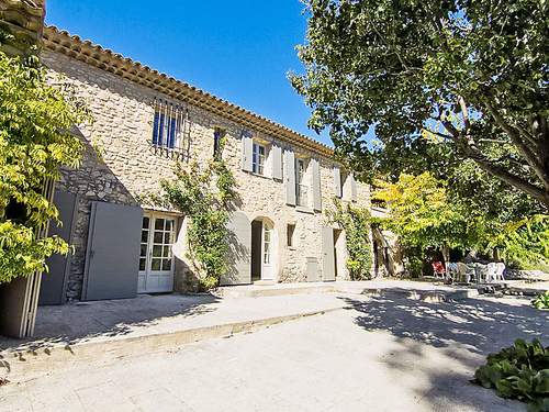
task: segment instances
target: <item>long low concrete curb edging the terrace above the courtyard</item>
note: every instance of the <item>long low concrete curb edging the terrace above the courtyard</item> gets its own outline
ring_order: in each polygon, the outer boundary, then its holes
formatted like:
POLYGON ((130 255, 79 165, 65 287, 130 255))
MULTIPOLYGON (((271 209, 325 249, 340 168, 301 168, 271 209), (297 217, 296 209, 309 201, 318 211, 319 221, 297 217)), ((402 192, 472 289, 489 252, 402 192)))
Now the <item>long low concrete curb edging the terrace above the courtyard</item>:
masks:
POLYGON ((0 352, 0 377, 5 376, 12 382, 30 380, 40 375, 47 375, 52 369, 70 367, 80 361, 97 360, 99 357, 104 363, 111 363, 121 357, 143 356, 193 342, 253 333, 279 323, 334 312, 344 308, 345 304, 341 304, 311 312, 111 341, 76 344, 56 343, 54 346, 34 349, 5 349, 0 352))

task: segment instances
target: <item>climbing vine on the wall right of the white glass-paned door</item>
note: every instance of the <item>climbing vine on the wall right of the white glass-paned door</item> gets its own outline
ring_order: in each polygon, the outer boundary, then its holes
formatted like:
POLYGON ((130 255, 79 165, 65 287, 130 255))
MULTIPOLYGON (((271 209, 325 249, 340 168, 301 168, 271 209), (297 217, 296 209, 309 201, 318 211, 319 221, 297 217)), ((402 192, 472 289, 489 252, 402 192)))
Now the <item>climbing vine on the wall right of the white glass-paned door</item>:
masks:
POLYGON ((187 230, 189 258, 201 275, 201 288, 208 290, 217 286, 228 269, 227 223, 237 199, 236 181, 221 155, 210 160, 205 168, 193 163, 184 169, 178 164, 175 172, 175 180, 160 182, 163 200, 190 218, 187 230))

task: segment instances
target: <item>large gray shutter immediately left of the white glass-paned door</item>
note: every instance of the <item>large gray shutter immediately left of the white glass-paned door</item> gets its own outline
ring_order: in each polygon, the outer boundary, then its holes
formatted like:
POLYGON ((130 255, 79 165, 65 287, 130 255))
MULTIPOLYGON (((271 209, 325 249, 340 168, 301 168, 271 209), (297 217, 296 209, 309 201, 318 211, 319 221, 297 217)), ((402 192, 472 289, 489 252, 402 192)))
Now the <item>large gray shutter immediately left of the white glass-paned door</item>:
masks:
POLYGON ((142 220, 138 207, 91 203, 83 300, 137 294, 142 220))

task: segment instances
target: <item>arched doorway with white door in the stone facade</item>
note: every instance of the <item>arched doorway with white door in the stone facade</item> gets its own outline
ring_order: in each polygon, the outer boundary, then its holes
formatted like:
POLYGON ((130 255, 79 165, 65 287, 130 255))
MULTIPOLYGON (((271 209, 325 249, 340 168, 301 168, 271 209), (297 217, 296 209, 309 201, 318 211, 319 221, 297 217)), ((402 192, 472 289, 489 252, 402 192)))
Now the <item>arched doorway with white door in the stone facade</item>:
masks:
POLYGON ((251 222, 251 281, 276 280, 277 236, 267 218, 251 222))

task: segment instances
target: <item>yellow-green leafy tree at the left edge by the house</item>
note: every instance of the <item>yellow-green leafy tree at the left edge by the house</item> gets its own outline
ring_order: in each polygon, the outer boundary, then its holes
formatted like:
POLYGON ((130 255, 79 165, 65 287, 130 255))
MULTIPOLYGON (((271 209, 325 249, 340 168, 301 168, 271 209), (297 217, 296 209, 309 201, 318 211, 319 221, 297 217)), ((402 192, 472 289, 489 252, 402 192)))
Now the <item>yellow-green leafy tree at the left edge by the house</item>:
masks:
MULTIPOLYGON (((1 40, 10 36, 2 32, 1 40)), ((37 236, 38 227, 58 219, 44 182, 80 158, 81 143, 70 129, 88 113, 68 91, 48 86, 35 53, 10 57, 0 51, 0 283, 47 270, 48 256, 68 252, 61 238, 37 236)))

